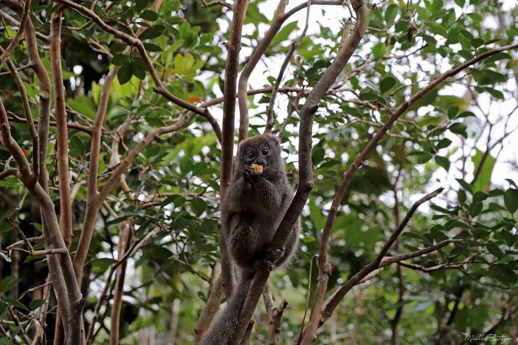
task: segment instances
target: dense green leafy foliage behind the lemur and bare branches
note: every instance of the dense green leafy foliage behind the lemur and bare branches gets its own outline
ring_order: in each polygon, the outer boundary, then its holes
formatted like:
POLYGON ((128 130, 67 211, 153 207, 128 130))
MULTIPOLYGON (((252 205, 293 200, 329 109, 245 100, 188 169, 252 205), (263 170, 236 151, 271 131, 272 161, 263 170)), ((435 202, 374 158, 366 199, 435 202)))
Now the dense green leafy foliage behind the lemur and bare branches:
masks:
MULTIPOLYGON (((91 158, 97 157, 98 162, 97 174, 93 174, 97 190, 104 190, 121 161, 143 145, 149 134, 179 124, 146 142, 121 171, 121 178, 116 176, 106 196, 101 193, 105 200, 99 201, 99 211, 94 213, 91 241, 81 242, 88 246, 80 286, 86 298, 87 339, 91 335, 93 343, 108 342, 111 319, 117 315, 112 312, 113 301, 119 296, 120 322, 115 324, 121 344, 193 343, 196 323, 221 271, 219 134, 207 121, 209 117, 189 113, 155 92, 157 85, 137 49, 128 53, 127 42, 67 1, 59 3, 33 2, 28 21, 39 35, 37 53, 51 75, 51 16, 63 10, 61 70, 73 200, 72 258, 80 248, 87 203, 92 202, 88 199, 99 197, 88 193, 91 158), (108 90, 103 89, 114 69, 117 77, 108 90), (92 128, 102 109, 103 92, 108 99, 104 122, 98 127, 102 144, 96 156, 92 128), (114 296, 117 284, 122 294, 114 296)), ((202 3, 136 0, 81 5, 125 34, 138 32, 166 91, 208 107, 221 125, 222 99, 217 98, 223 95, 227 56, 222 43, 229 39, 232 12, 202 3)), ((274 21, 277 3, 250 2, 244 17, 240 71, 274 21)), ((300 3, 290 2, 287 8, 300 3)), ((2 3, 3 49, 18 33, 22 7, 18 0, 2 3)), ((282 147, 294 185, 300 111, 309 91, 339 54, 342 24, 348 25, 352 13, 348 7, 347 1, 311 6, 310 29, 290 60, 274 103, 273 132, 277 134, 285 122, 282 147)), ((305 13, 304 7, 283 23, 248 81, 248 136, 263 132, 271 88, 291 43, 304 29, 305 13), (250 92, 259 88, 265 90, 250 92)), ((362 42, 315 115, 315 183, 301 216, 297 260, 270 278, 275 305, 282 299, 289 303, 280 343, 291 343, 299 335, 308 291, 311 309, 319 280, 316 254, 322 229, 354 158, 398 107, 441 73, 493 49, 515 45, 516 17, 518 6, 512 1, 389 0, 373 9, 362 42)), ((4 63, 0 97, 11 135, 31 161, 33 141, 21 99, 26 97, 32 117, 38 119, 45 96, 33 70, 34 59, 28 59, 28 45, 22 39, 10 54, 20 69, 22 84, 17 85, 4 63)), ((518 177, 516 154, 509 149, 517 144, 518 55, 516 46, 511 48, 449 75, 413 102, 374 142, 332 224, 327 253, 336 268, 329 277, 326 297, 375 260, 412 203, 439 186, 445 191, 419 208, 389 254, 417 251, 447 239, 462 242, 381 268, 342 299, 318 329, 315 343, 461 343, 467 335, 478 334, 504 335, 512 338, 508 343, 518 341, 518 177)), ((54 93, 52 87, 51 109, 56 105, 54 93)), ((48 191, 59 215, 63 203, 54 114, 51 110, 48 138, 40 141, 49 144, 48 191)), ((0 173, 18 167, 9 149, 0 145, 0 173)), ((3 177, 0 325, 9 337, 0 343, 33 338, 37 343, 52 343, 56 298, 46 284, 50 281, 48 261, 25 251, 6 250, 21 239, 8 217, 26 237, 42 234, 39 207, 20 178, 3 177)), ((33 246, 44 249, 37 241, 33 246)), ((23 242, 19 248, 26 249, 23 242)), ((262 303, 254 318, 252 343, 266 343, 269 319, 262 303)))

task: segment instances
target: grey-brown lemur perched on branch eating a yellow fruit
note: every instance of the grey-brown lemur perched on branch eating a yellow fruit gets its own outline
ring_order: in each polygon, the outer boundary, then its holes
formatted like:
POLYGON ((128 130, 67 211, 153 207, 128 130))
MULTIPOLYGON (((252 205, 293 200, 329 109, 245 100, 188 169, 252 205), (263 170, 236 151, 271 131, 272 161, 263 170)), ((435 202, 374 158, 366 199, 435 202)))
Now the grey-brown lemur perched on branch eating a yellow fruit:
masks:
POLYGON ((220 224, 229 256, 240 268, 241 280, 202 340, 202 345, 226 345, 231 341, 244 299, 255 272, 268 272, 289 263, 297 249, 300 223, 297 221, 284 247, 274 251, 275 262, 264 260, 269 243, 293 199, 279 140, 256 136, 238 147, 237 168, 221 203, 220 224))

